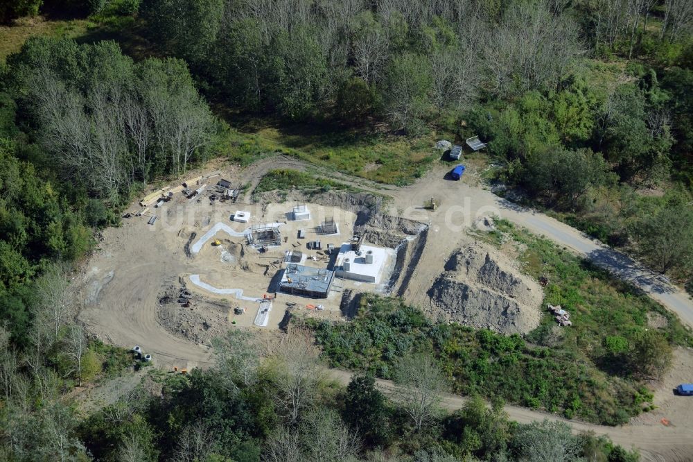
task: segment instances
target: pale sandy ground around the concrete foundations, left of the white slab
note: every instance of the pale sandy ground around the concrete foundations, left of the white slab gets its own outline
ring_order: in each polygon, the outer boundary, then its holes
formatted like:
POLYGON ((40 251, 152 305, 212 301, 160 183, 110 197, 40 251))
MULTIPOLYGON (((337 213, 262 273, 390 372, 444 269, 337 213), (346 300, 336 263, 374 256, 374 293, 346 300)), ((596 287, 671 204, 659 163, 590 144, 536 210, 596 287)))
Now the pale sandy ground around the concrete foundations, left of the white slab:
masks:
MULTIPOLYGON (((223 177, 243 184, 244 179, 234 176, 235 172, 228 173, 223 177)), ((120 228, 103 232, 98 250, 78 281, 78 296, 83 300, 80 319, 90 332, 109 343, 125 348, 141 346, 159 366, 207 366, 212 336, 234 325, 257 328, 254 319, 259 305, 255 300, 275 295, 286 252, 299 250, 304 254, 301 264, 325 268, 329 257, 308 250, 306 243, 319 240, 322 248, 327 244, 339 248, 351 238, 354 212, 308 204, 310 219, 292 221, 290 212, 296 204, 220 203, 207 196, 188 200, 177 194, 169 203, 151 209, 158 216, 154 225, 148 225, 148 216, 123 219, 120 228), (249 223, 232 220, 237 210, 250 212, 249 223), (337 234, 319 234, 319 225, 328 217, 337 223, 337 234), (195 243, 217 223, 224 223, 229 232, 216 232, 193 253, 195 243), (278 223, 282 239, 281 246, 260 253, 247 246, 244 232, 263 223, 278 223), (305 239, 298 238, 299 230, 306 232, 305 239), (221 245, 213 245, 214 239, 221 245), (213 293, 204 286, 223 293, 213 293), (177 303, 183 290, 191 293, 190 307, 177 303), (236 307, 245 312, 234 314, 236 307)), ((128 212, 141 208, 134 203, 128 212)), ((392 260, 387 262, 383 280, 389 279, 392 260)), ((385 284, 337 279, 328 298, 319 300, 279 293, 272 302, 267 328, 280 327, 288 304, 298 310, 319 304, 324 310, 315 310, 310 316, 341 318, 344 289, 383 291, 385 284)))

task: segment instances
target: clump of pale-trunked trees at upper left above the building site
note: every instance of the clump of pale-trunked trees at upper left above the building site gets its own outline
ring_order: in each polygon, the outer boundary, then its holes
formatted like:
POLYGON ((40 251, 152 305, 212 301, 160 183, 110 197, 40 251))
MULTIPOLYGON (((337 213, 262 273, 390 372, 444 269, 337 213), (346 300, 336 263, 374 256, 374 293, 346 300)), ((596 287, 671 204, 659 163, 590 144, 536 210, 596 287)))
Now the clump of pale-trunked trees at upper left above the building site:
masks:
POLYGON ((134 182, 180 173, 215 125, 184 62, 134 64, 114 42, 28 40, 8 60, 14 91, 63 178, 116 203, 134 182))

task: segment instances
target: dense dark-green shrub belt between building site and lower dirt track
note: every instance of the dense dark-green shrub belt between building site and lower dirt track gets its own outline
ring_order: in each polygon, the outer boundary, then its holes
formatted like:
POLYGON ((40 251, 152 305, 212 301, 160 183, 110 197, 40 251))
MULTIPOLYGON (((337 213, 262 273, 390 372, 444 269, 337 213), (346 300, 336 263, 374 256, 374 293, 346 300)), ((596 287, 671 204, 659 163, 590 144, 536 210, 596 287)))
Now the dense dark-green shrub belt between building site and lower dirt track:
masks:
POLYGON ((617 425, 640 412, 647 399, 635 384, 608 379, 568 350, 528 345, 461 325, 435 325, 421 311, 391 298, 367 296, 347 324, 306 320, 331 366, 368 370, 391 378, 397 359, 417 349, 432 350, 453 391, 502 397, 527 407, 617 425))

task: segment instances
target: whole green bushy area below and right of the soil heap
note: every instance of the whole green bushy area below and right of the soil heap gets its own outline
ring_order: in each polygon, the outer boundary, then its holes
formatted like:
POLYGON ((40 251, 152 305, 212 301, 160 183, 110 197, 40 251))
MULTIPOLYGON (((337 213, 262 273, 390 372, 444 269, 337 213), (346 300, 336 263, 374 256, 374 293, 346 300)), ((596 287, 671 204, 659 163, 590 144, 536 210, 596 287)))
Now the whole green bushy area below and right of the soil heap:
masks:
POLYGON ((545 302, 567 308, 572 328, 555 327, 546 315, 525 339, 502 336, 435 324, 401 300, 366 295, 350 323, 305 321, 331 365, 390 378, 398 358, 430 350, 457 393, 607 425, 649 409, 652 395, 641 379, 667 366, 672 344, 690 345, 690 332, 656 302, 549 241, 504 221, 499 226, 525 246, 525 271, 548 278, 545 302), (648 327, 648 314, 665 327, 648 327), (654 354, 646 358, 646 351, 654 354))

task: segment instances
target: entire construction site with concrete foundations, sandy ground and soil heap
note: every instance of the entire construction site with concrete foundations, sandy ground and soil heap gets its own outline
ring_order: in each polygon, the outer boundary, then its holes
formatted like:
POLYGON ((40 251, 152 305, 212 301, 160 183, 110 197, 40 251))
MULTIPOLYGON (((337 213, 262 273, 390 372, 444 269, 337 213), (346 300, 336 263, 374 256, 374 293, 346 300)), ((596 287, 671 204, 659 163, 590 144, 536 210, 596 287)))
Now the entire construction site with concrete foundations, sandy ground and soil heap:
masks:
POLYGON ((231 328, 278 330, 290 313, 349 318, 364 292, 505 334, 538 325, 541 286, 467 232, 432 221, 443 214, 424 204, 437 193, 402 188, 383 206, 367 191, 279 198, 240 187, 261 175, 200 173, 133 203, 82 281, 91 332, 141 345, 155 363, 194 367, 231 328), (412 192, 421 207, 403 213, 412 192))

